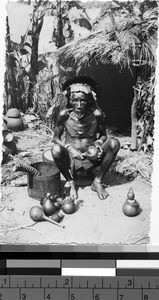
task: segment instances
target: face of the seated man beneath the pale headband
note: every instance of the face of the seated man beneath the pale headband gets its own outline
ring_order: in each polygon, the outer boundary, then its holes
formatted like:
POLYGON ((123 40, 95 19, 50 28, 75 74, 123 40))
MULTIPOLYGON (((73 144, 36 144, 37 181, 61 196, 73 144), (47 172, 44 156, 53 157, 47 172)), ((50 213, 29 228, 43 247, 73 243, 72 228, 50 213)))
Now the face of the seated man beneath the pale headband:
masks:
POLYGON ((70 103, 73 107, 74 112, 80 116, 85 113, 88 100, 86 98, 86 95, 83 93, 73 93, 71 95, 70 103))

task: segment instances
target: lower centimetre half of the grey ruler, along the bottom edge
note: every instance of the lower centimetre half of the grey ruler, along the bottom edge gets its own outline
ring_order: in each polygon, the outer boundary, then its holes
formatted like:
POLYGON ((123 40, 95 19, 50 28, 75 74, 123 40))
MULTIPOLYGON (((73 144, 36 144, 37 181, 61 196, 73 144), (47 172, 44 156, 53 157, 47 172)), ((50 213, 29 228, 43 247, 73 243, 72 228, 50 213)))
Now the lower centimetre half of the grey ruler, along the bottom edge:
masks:
POLYGON ((55 288, 11 288, 1 289, 3 300, 157 300, 159 290, 146 289, 55 289, 55 288))

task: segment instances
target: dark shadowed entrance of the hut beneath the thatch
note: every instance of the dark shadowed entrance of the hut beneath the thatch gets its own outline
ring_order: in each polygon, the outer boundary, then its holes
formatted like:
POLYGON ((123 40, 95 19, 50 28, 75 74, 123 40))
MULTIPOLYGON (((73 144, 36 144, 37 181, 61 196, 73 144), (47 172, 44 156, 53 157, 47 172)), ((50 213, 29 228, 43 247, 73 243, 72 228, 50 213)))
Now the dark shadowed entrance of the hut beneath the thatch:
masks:
POLYGON ((101 88, 99 107, 105 112, 107 125, 127 132, 131 127, 131 104, 136 84, 136 69, 121 70, 112 64, 95 64, 82 69, 80 73, 90 75, 101 88))

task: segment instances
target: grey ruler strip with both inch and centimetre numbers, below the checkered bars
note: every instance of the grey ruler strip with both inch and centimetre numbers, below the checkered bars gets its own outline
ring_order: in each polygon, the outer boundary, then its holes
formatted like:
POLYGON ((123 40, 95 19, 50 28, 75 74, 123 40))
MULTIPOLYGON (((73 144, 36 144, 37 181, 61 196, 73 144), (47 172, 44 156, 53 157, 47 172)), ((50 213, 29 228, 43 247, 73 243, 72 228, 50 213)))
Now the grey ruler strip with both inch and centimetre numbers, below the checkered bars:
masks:
POLYGON ((3 300, 157 300, 159 277, 7 275, 0 276, 0 295, 3 300))

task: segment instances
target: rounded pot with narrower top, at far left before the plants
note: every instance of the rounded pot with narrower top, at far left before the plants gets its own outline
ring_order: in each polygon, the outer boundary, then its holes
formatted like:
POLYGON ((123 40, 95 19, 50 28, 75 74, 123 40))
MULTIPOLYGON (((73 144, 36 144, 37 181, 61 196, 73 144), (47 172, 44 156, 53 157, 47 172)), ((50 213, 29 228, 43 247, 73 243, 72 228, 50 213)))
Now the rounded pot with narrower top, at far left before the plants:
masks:
POLYGON ((8 129, 13 131, 23 130, 23 120, 18 109, 9 109, 6 115, 6 121, 8 129))

